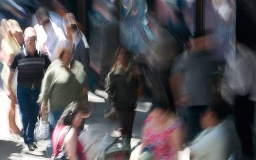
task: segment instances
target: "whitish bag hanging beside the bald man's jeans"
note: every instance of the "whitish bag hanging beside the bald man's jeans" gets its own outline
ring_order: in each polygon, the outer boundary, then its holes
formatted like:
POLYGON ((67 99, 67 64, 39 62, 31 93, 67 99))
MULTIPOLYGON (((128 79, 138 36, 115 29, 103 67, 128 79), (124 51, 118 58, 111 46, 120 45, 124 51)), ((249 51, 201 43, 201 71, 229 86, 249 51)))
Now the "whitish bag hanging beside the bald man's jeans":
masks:
POLYGON ((34 130, 34 139, 37 140, 46 140, 50 138, 50 124, 47 118, 42 118, 39 115, 38 121, 34 130))

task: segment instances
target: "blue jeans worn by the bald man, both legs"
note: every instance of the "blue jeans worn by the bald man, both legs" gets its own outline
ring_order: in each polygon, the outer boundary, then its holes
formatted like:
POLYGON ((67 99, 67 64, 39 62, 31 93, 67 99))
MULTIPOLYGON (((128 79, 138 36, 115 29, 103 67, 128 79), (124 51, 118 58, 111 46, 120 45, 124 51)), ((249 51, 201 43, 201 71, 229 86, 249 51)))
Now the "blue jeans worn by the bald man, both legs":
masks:
POLYGON ((31 90, 30 88, 17 85, 17 100, 21 110, 22 136, 25 144, 34 142, 34 129, 39 112, 39 105, 37 103, 39 94, 40 87, 31 90))

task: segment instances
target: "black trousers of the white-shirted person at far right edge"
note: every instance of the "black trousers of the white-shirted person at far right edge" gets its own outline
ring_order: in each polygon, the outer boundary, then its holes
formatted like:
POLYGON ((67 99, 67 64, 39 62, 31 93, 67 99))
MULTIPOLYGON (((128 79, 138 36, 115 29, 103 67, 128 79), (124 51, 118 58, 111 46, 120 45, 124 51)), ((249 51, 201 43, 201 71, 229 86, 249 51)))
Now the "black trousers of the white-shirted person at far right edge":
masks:
POLYGON ((253 155, 251 120, 254 103, 245 96, 237 96, 233 109, 235 128, 241 141, 242 155, 253 155))

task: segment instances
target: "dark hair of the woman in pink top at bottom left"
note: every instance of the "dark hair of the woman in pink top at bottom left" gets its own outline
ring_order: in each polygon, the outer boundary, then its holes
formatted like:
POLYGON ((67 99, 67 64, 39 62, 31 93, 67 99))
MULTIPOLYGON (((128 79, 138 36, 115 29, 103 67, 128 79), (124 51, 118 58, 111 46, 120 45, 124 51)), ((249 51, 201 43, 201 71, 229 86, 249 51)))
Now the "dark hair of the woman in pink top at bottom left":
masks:
POLYGON ((75 118, 75 115, 82 111, 82 107, 79 103, 73 101, 71 102, 63 111, 62 115, 59 118, 58 125, 70 126, 72 124, 72 120, 75 118))

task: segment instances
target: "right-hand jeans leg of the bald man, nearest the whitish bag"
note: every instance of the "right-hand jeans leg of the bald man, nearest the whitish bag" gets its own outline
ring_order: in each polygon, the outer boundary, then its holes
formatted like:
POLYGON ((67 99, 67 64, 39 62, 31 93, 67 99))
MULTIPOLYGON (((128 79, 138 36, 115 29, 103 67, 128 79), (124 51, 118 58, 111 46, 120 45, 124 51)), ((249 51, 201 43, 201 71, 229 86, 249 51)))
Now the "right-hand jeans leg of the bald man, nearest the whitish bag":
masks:
POLYGON ((34 129, 35 125, 37 123, 37 116, 39 113, 39 104, 37 103, 38 95, 40 94, 40 88, 31 90, 31 96, 30 96, 30 106, 29 106, 29 124, 27 129, 27 141, 29 143, 34 142, 34 129))

